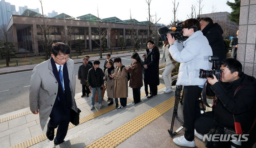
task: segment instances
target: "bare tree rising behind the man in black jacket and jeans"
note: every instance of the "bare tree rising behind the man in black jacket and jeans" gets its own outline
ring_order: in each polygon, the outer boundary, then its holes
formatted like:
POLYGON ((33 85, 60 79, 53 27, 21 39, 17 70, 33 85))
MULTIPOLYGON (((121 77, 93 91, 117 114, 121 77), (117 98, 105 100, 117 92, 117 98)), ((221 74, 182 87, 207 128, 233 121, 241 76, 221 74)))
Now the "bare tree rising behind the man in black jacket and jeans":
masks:
MULTIPOLYGON (((97 13, 98 13, 98 6, 97 6, 97 13)), ((98 22, 98 28, 97 28, 97 32, 92 32, 95 36, 97 35, 98 36, 98 39, 100 40, 100 44, 96 42, 96 40, 94 39, 95 43, 97 45, 100 46, 100 58, 102 58, 102 43, 103 43, 103 40, 106 39, 106 31, 107 29, 106 28, 102 28, 101 27, 101 22, 100 22, 100 17, 99 17, 99 14, 98 14, 98 18, 97 18, 97 22, 98 22)))

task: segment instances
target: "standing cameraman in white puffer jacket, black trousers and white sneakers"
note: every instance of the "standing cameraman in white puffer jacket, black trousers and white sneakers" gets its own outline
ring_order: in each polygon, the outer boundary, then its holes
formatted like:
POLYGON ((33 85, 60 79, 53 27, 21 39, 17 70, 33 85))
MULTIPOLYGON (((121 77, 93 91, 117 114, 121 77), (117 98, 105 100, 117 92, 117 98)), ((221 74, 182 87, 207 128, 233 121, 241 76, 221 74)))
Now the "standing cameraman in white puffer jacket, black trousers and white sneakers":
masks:
POLYGON ((180 62, 176 85, 183 85, 183 117, 185 123, 185 135, 174 138, 174 143, 179 146, 195 147, 194 119, 200 114, 198 97, 202 92, 202 86, 206 79, 199 78, 199 68, 209 69, 212 63, 208 56, 212 55, 212 49, 207 38, 200 31, 200 23, 191 18, 181 25, 183 36, 188 37, 182 43, 175 42, 170 33, 167 34, 170 43, 169 52, 172 58, 180 62))

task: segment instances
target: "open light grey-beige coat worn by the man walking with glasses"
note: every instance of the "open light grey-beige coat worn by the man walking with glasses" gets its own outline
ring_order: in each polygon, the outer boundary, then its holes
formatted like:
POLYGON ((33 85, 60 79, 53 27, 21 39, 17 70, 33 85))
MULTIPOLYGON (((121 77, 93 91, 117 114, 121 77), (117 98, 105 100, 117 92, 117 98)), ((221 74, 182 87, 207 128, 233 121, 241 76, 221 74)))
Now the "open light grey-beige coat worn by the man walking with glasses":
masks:
MULTIPOLYGON (((52 57, 51 57, 52 58, 52 57)), ((75 70, 74 61, 68 59, 66 62, 69 74, 69 87, 72 98, 72 109, 77 112, 75 103, 75 70)), ((34 67, 30 81, 30 110, 39 109, 39 119, 42 130, 52 111, 56 95, 58 94, 58 82, 53 74, 50 59, 34 67)))

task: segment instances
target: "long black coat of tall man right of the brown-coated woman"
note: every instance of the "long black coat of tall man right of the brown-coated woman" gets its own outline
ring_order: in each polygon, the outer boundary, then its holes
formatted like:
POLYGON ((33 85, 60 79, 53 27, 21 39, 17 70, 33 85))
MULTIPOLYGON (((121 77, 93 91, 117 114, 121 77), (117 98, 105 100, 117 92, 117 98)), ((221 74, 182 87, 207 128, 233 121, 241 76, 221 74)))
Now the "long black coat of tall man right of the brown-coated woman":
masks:
POLYGON ((149 49, 146 49, 147 55, 143 62, 143 65, 147 65, 148 68, 144 68, 145 83, 149 85, 159 85, 159 49, 154 46, 151 53, 149 54, 149 49))

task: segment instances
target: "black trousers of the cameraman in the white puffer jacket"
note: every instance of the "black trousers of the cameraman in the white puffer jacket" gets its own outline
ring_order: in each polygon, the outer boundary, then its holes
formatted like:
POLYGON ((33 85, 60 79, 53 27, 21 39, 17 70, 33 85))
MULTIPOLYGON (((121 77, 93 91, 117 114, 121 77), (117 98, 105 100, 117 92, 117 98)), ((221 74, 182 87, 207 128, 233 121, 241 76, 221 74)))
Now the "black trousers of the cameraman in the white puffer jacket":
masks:
POLYGON ((194 120, 201 114, 198 97, 202 88, 198 86, 184 86, 183 89, 183 117, 185 124, 184 137, 187 141, 194 139, 194 120))

